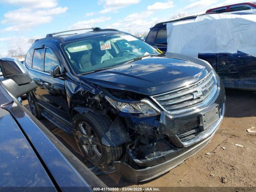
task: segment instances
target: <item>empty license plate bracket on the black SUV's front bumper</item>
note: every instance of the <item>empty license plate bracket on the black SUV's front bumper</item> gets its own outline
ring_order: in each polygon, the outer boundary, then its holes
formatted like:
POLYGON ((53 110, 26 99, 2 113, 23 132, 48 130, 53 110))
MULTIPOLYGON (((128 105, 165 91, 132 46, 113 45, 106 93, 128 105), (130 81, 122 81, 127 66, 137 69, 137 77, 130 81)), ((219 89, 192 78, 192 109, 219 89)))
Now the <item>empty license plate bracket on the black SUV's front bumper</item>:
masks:
POLYGON ((201 130, 208 129, 214 122, 220 119, 219 105, 214 104, 210 109, 202 111, 199 115, 199 128, 201 130))

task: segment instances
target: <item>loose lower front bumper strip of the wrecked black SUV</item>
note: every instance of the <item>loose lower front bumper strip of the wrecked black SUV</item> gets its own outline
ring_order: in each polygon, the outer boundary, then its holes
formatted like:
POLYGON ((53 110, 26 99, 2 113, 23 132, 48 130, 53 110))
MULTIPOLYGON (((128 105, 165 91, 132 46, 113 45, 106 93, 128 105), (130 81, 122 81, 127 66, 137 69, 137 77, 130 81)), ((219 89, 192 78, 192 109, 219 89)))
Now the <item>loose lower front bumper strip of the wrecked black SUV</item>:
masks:
MULTIPOLYGON (((225 112, 225 105, 223 104, 222 110, 220 113, 220 119, 214 123, 212 127, 210 127, 203 135, 200 135, 198 138, 194 138, 193 143, 189 143, 188 145, 184 145, 182 148, 175 150, 174 152, 162 156, 161 159, 156 159, 158 164, 154 166, 148 166, 146 168, 134 169, 130 165, 125 162, 114 162, 114 166, 119 174, 124 178, 124 180, 128 182, 144 182, 147 180, 151 180, 164 174, 171 170, 172 168, 178 166, 184 160, 189 158, 190 156, 196 154, 199 150, 201 150, 206 144, 211 140, 214 136, 214 133, 220 126, 223 116, 225 112)), ((139 162, 136 162, 139 164, 139 162)))

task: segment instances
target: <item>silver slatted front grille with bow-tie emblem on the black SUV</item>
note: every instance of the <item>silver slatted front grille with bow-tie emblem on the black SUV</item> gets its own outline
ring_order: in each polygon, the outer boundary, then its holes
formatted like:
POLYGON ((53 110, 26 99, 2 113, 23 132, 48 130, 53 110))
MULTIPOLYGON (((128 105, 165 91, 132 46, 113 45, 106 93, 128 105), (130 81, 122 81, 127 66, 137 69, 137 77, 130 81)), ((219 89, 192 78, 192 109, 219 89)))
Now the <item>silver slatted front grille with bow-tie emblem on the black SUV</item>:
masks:
POLYGON ((210 73, 196 84, 152 96, 152 99, 170 114, 180 114, 208 104, 216 91, 216 79, 210 73))

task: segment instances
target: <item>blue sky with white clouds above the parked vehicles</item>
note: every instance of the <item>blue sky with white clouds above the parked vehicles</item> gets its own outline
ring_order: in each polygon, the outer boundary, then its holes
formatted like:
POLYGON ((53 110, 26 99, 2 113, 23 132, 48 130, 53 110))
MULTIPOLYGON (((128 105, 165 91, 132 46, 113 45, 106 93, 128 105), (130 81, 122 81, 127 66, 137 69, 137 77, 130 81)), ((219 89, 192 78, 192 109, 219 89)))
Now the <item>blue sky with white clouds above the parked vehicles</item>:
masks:
MULTIPOLYGON (((148 32, 157 22, 241 0, 0 0, 0 56, 26 52, 30 38, 87 28, 148 32)), ((243 1, 242 1, 243 2, 243 1)))

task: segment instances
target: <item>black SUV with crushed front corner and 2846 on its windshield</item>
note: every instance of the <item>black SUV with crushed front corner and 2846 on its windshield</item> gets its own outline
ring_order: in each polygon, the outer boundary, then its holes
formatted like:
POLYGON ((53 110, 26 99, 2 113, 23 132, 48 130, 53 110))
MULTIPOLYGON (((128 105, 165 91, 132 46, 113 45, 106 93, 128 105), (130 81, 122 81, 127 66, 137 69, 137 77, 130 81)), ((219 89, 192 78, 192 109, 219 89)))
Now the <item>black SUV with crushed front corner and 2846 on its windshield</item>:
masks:
POLYGON ((34 116, 73 134, 86 160, 113 164, 130 182, 182 163, 224 115, 224 88, 210 64, 118 30, 48 34, 25 66, 38 86, 28 94, 34 116))

